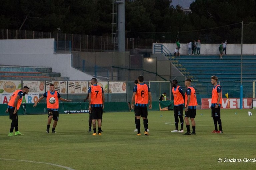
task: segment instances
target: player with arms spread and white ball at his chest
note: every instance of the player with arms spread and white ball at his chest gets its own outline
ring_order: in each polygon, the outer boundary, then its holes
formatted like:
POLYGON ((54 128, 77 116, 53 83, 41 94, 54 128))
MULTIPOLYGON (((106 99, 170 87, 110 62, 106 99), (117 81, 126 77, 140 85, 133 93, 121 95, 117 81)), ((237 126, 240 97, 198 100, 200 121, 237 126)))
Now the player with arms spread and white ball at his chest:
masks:
POLYGON ((48 109, 48 122, 47 122, 47 129, 46 133, 49 133, 50 124, 52 122, 52 119, 54 120, 53 127, 52 127, 52 133, 56 133, 55 128, 57 126, 58 120, 59 120, 59 100, 64 102, 71 102, 72 100, 64 99, 60 97, 60 94, 54 90, 55 86, 54 84, 50 84, 50 90, 44 93, 38 101, 33 105, 33 107, 36 107, 37 103, 40 102, 44 97, 46 97, 46 104, 48 109), (54 102, 55 101, 55 102, 54 102))

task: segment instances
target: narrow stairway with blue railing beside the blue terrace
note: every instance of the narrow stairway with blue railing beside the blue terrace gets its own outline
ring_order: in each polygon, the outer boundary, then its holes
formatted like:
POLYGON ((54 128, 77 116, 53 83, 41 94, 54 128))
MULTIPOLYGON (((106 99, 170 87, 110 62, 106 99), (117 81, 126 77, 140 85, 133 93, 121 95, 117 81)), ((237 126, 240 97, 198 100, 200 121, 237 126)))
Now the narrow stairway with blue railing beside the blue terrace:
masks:
POLYGON ((192 75, 186 67, 162 44, 154 44, 154 53, 162 53, 172 64, 184 75, 192 81, 197 81, 196 77, 192 75))

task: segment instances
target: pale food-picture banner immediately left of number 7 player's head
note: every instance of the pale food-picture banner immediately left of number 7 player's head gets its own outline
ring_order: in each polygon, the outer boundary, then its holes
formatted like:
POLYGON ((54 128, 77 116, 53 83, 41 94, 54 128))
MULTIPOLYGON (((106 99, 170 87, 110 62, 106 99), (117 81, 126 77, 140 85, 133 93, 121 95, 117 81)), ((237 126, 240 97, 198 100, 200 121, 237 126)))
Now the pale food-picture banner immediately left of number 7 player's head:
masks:
POLYGON ((85 94, 88 93, 87 81, 69 81, 68 82, 69 94, 85 94))

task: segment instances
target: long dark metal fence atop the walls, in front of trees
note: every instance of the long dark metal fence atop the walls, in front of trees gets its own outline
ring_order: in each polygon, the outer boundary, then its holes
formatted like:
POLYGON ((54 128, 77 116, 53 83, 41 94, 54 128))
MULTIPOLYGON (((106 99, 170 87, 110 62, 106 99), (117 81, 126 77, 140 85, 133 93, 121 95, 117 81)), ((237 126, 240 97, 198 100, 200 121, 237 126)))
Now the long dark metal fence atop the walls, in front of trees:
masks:
MULTIPOLYGON (((8 39, 55 39, 57 42, 70 41, 72 51, 106 52, 117 51, 116 43, 111 36, 91 36, 82 34, 67 34, 58 32, 39 32, 26 30, 0 29, 0 40, 8 39)), ((126 38, 125 50, 152 49, 152 43, 164 43, 164 39, 126 38)), ((166 41, 170 43, 170 41, 166 41)))

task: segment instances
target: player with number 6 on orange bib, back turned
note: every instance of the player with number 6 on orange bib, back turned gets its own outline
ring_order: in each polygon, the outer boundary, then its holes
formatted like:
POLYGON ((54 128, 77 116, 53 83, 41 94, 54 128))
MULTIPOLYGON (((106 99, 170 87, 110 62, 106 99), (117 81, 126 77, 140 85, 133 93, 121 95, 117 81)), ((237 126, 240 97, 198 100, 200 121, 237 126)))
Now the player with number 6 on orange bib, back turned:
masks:
POLYGON ((136 98, 136 110, 135 110, 135 116, 136 116, 136 128, 138 129, 137 135, 141 135, 140 133, 140 117, 143 119, 143 125, 144 125, 144 134, 149 135, 147 129, 148 129, 148 110, 152 109, 152 96, 150 92, 150 88, 148 85, 143 83, 144 77, 138 76, 138 84, 134 86, 133 88, 133 95, 132 95, 132 105, 131 108, 134 109, 134 102, 136 98), (149 101, 149 105, 148 105, 149 101))

